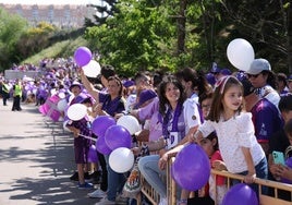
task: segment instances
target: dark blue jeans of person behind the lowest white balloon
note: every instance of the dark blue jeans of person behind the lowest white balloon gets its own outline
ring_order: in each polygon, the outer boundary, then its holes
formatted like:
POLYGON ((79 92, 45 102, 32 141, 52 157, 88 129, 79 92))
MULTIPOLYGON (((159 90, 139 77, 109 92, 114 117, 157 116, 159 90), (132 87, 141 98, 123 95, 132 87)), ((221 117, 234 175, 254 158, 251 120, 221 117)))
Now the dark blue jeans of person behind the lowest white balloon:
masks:
POLYGON ((105 155, 105 159, 108 168, 108 200, 115 201, 117 193, 122 192, 126 178, 124 173, 118 173, 110 168, 109 155, 105 155))

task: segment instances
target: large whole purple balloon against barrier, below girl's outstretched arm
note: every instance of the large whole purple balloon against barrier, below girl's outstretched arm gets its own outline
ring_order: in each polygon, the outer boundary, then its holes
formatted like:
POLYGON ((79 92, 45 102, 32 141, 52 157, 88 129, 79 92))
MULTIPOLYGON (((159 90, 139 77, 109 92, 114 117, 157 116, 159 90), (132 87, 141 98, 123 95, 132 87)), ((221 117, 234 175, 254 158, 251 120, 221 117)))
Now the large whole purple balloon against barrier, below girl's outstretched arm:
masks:
POLYGON ((210 177, 210 161, 205 150, 196 145, 186 145, 175 157, 171 176, 183 189, 196 191, 203 188, 210 177))

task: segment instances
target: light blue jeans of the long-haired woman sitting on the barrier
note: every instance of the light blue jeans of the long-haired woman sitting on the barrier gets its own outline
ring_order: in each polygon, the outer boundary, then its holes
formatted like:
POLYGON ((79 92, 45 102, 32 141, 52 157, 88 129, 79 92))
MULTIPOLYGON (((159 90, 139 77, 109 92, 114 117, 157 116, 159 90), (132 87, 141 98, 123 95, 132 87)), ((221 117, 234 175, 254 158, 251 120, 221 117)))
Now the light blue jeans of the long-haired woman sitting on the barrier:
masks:
POLYGON ((166 176, 166 170, 158 167, 158 155, 149 155, 138 160, 138 169, 146 181, 159 193, 160 197, 167 197, 167 183, 161 176, 166 176))

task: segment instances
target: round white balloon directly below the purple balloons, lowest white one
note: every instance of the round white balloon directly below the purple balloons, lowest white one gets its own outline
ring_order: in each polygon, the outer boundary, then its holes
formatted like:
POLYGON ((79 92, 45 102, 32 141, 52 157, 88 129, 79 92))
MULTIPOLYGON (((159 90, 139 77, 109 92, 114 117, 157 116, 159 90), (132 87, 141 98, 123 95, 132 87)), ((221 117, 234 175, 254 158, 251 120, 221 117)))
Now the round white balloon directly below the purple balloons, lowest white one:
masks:
POLYGON ((125 147, 115 148, 109 156, 109 165, 113 171, 124 173, 134 166, 134 154, 125 147))

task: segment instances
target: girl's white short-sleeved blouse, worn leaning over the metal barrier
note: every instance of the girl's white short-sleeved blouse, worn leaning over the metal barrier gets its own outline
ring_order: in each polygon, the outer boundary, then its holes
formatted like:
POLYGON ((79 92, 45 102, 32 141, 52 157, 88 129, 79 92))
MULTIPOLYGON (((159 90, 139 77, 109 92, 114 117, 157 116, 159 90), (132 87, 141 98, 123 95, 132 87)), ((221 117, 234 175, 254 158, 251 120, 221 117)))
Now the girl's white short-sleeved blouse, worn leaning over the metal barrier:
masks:
POLYGON ((219 149, 228 171, 240 173, 247 171, 247 165, 241 147, 248 147, 256 166, 264 157, 265 153, 255 137, 252 113, 244 112, 240 116, 219 122, 206 120, 198 130, 203 136, 208 136, 216 131, 218 136, 219 149))

